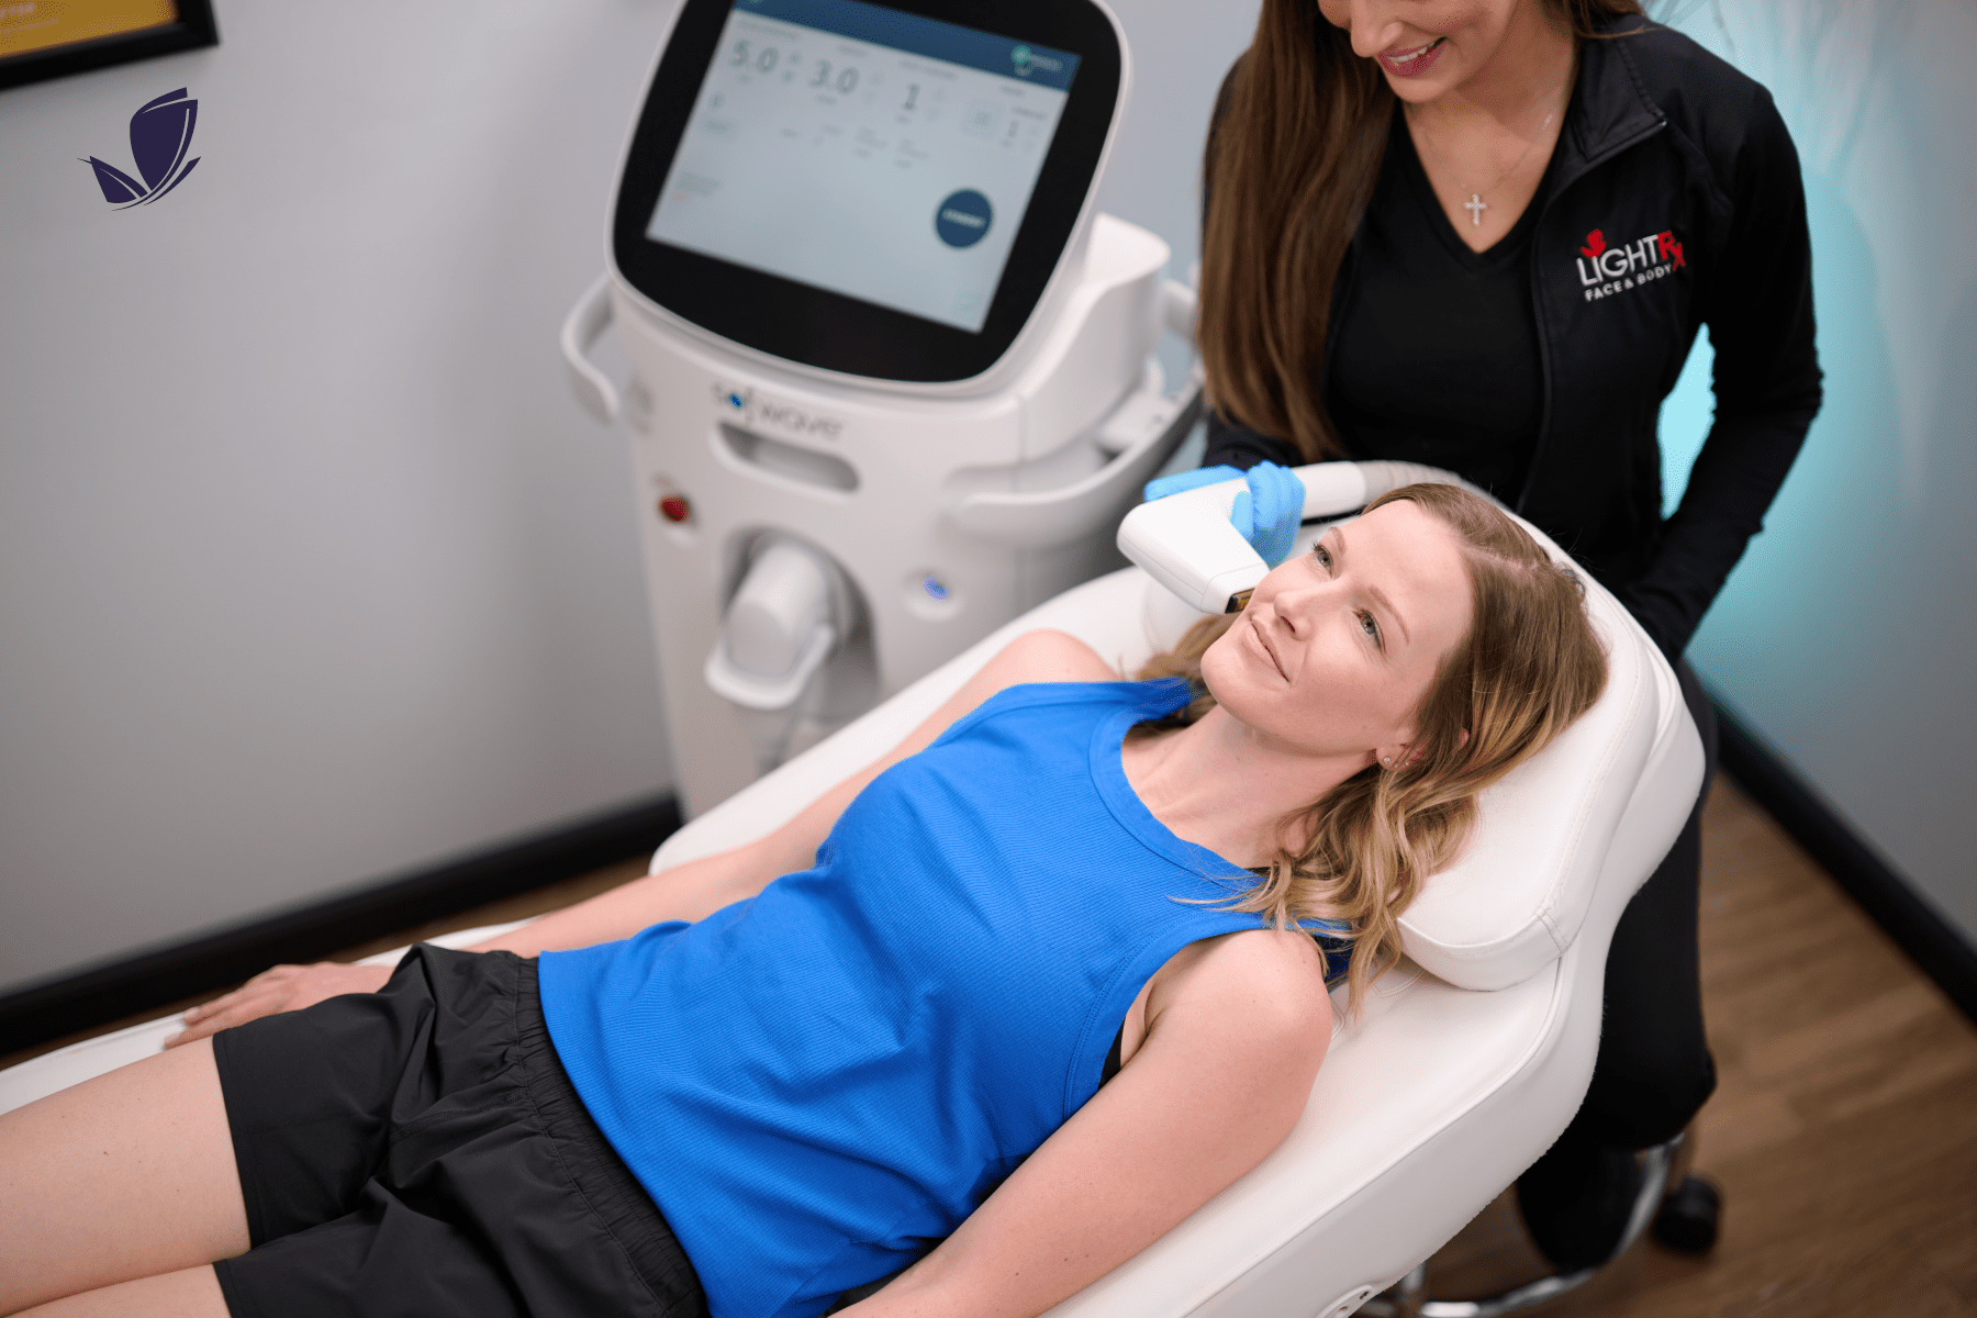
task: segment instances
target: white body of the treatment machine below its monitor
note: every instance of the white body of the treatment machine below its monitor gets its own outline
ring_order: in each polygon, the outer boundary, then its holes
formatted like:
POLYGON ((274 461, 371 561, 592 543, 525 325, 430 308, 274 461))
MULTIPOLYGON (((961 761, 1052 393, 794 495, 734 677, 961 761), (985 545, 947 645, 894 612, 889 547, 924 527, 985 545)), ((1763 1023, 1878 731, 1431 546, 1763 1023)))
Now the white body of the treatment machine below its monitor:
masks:
MULTIPOLYGON (((1192 296, 1162 287, 1168 249, 1145 229, 1095 215, 1079 247, 1046 294, 1048 322, 1040 310, 996 370, 955 385, 779 364, 682 324, 615 275, 571 312, 563 350, 579 397, 631 429, 688 816, 1119 565, 1113 528, 1194 419, 1194 393, 1168 393, 1151 360, 1164 330, 1188 328, 1192 296), (587 360, 613 324, 635 371, 623 405, 587 360), (684 520, 668 516, 674 500, 684 520), (745 672, 724 620, 779 543, 826 565, 826 585, 809 587, 830 597, 809 636, 830 638, 799 644, 783 674, 745 672)), ((749 591, 811 613, 785 581, 749 591)))

